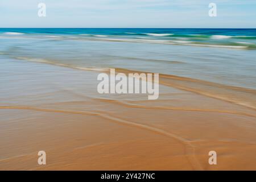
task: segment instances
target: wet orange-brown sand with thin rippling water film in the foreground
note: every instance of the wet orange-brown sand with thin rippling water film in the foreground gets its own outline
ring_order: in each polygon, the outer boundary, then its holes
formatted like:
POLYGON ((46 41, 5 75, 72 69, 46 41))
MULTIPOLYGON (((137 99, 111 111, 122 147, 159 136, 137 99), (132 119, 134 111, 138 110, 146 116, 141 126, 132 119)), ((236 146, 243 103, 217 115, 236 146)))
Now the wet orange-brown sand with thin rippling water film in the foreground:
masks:
POLYGON ((1 61, 2 170, 256 169, 253 90, 224 97, 221 86, 209 94, 196 82, 195 92, 195 82, 162 75, 159 99, 148 101, 98 94, 98 72, 1 61), (37 163, 40 150, 45 166, 37 163), (212 150, 217 165, 208 163, 212 150))

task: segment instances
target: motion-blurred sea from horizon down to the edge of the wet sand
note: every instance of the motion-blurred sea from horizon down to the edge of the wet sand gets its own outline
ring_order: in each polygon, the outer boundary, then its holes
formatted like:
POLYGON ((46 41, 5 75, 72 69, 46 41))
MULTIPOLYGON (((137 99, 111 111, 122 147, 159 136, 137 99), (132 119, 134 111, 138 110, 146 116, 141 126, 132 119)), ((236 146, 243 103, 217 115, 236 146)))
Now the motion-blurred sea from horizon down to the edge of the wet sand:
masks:
POLYGON ((0 28, 0 61, 125 68, 250 89, 256 89, 255 45, 256 29, 0 28))

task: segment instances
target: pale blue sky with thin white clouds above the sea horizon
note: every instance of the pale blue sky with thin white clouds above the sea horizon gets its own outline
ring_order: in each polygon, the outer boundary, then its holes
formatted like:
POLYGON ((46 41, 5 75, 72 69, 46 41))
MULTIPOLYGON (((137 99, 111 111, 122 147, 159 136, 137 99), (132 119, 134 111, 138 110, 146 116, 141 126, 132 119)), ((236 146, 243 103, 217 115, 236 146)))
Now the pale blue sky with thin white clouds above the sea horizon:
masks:
POLYGON ((0 0, 0 27, 256 28, 256 1, 0 0), (39 3, 46 17, 38 16, 39 3))

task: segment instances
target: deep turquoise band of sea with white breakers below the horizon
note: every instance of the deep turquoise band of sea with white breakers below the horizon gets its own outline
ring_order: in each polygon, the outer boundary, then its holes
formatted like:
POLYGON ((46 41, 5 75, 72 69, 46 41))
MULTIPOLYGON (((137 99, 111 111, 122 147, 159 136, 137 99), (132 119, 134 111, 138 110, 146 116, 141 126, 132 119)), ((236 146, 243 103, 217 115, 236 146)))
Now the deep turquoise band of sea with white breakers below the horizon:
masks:
POLYGON ((0 28, 0 34, 256 49, 256 29, 0 28))

